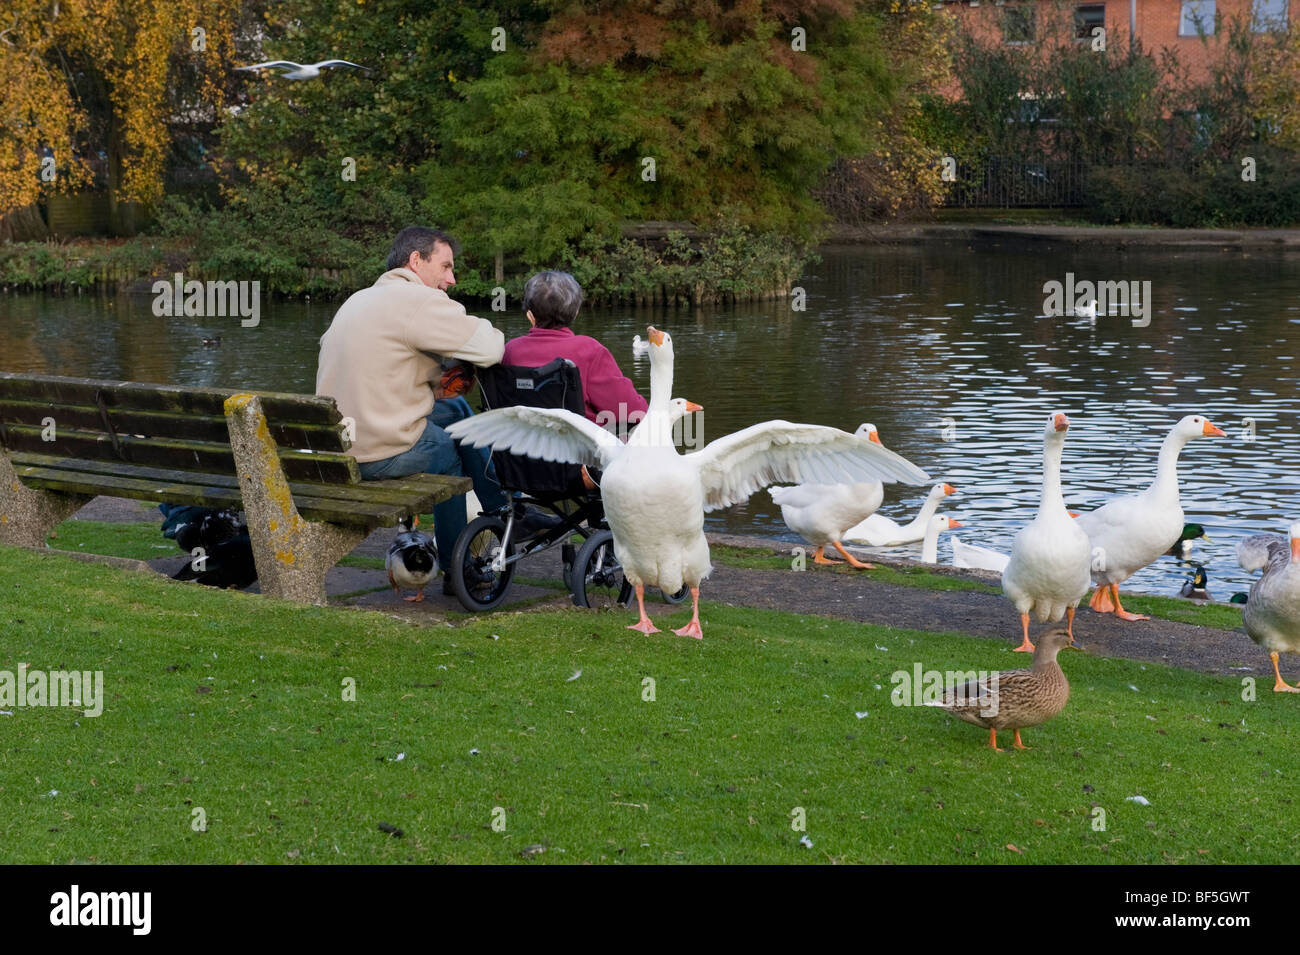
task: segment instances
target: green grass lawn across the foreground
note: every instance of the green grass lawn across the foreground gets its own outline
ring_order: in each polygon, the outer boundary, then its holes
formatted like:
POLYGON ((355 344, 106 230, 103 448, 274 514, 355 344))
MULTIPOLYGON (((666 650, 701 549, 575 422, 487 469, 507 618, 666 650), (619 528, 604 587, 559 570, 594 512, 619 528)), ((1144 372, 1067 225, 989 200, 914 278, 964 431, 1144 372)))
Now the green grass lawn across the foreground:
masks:
POLYGON ((1031 751, 997 754, 941 711, 890 706, 890 674, 916 661, 1024 664, 968 637, 708 603, 703 642, 577 609, 417 629, 12 548, 0 592, 0 669, 101 669, 107 695, 99 717, 0 715, 9 863, 1288 863, 1300 847, 1300 700, 1268 681, 1243 702, 1235 680, 1067 654, 1070 706, 1024 733, 1031 751))

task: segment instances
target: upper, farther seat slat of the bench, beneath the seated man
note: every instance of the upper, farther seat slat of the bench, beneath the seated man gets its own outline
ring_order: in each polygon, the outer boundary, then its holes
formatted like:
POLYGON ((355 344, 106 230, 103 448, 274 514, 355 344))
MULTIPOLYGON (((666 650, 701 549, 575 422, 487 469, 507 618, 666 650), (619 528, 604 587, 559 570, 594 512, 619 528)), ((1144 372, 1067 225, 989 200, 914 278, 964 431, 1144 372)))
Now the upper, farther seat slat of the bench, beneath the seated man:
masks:
MULTIPOLYGON (((239 490, 239 478, 233 474, 185 473, 165 468, 148 468, 121 461, 88 461, 55 455, 16 453, 10 456, 14 468, 31 466, 60 472, 79 472, 86 474, 107 474, 155 481, 165 485, 192 483, 204 487, 224 487, 239 490)), ((21 472, 20 472, 21 473, 21 472)), ((338 502, 361 502, 377 504, 398 504, 403 507, 420 505, 421 511, 455 494, 464 494, 471 487, 469 478, 450 474, 412 474, 394 481, 363 481, 359 485, 320 485, 291 481, 289 490, 294 498, 321 498, 338 502), (422 502, 434 496, 428 505, 422 502)))

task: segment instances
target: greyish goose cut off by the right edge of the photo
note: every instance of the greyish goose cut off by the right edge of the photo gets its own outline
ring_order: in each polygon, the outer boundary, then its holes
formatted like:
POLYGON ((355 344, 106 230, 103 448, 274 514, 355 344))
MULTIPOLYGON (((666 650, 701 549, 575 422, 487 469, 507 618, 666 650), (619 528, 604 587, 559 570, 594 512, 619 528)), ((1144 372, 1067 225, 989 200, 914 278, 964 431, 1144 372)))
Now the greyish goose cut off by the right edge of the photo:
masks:
POLYGON ((1236 559, 1247 570, 1264 568, 1251 587, 1243 622, 1251 639, 1269 651, 1274 693, 1300 693, 1287 685, 1278 669, 1278 654, 1300 652, 1300 522, 1292 524, 1290 541, 1275 534, 1256 534, 1236 546, 1236 559))

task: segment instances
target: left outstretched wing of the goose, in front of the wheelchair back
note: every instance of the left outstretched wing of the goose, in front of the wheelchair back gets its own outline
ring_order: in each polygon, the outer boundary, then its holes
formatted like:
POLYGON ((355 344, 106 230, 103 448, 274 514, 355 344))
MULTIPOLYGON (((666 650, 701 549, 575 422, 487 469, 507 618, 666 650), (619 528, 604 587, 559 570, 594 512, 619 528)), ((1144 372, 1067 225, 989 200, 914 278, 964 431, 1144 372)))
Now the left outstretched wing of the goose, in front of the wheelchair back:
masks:
POLYGON ((606 466, 623 447, 599 425, 563 408, 497 408, 448 425, 447 434, 478 448, 595 468, 606 466))

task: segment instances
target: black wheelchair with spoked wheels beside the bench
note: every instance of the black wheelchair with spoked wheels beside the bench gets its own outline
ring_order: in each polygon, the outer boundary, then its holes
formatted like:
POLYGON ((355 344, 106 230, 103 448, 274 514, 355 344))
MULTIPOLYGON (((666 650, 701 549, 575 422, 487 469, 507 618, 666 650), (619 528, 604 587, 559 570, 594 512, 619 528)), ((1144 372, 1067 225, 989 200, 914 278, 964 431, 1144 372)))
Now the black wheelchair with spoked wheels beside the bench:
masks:
MULTIPOLYGON (((485 411, 521 404, 584 413, 581 376, 568 359, 541 368, 480 368, 478 386, 485 411)), ((586 490, 582 469, 502 451, 491 459, 507 503, 481 513, 456 538, 447 574, 460 604, 471 612, 497 607, 510 594, 519 563, 558 544, 564 587, 576 605, 629 607, 632 585, 614 554, 599 491, 586 490)), ((682 587, 664 599, 681 603, 688 595, 682 587)))

